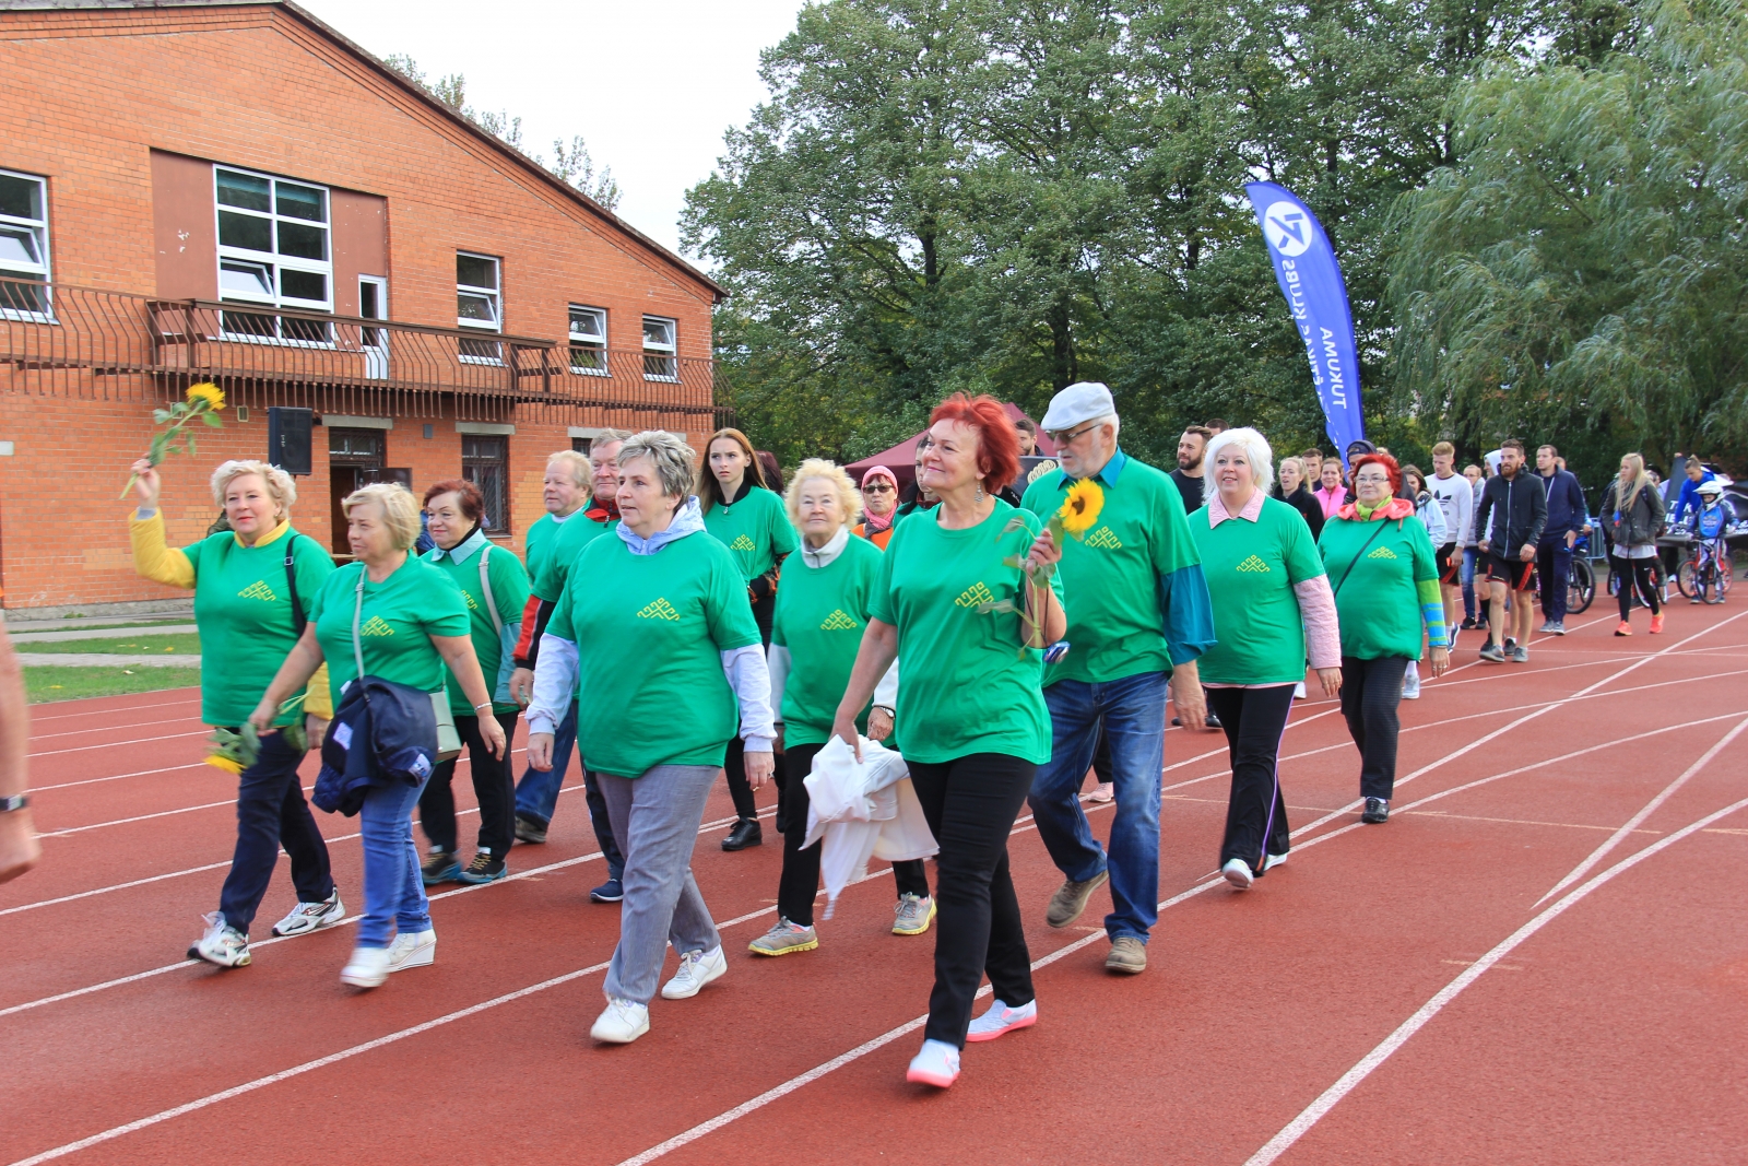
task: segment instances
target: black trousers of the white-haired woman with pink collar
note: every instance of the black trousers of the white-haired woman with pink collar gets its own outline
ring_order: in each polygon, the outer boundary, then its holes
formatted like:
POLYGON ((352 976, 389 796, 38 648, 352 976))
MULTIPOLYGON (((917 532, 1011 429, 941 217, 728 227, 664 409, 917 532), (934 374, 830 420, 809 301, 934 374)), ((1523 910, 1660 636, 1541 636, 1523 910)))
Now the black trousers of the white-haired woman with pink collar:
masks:
POLYGON ((1287 715, 1294 711, 1294 685, 1208 689, 1208 706, 1220 718, 1232 762, 1220 865, 1243 858, 1260 878, 1266 855, 1285 855, 1292 846, 1280 759, 1287 715))

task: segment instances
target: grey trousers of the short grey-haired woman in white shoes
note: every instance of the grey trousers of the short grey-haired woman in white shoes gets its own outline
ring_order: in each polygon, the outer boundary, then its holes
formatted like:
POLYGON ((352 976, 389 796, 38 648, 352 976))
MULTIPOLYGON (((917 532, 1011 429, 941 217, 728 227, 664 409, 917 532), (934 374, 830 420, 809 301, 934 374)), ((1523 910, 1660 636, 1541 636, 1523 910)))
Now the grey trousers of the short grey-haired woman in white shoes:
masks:
POLYGON ((626 855, 608 998, 649 1003, 669 942, 682 954, 722 944, 692 878, 692 848, 717 773, 717 766, 656 766, 642 778, 596 774, 614 841, 626 855))

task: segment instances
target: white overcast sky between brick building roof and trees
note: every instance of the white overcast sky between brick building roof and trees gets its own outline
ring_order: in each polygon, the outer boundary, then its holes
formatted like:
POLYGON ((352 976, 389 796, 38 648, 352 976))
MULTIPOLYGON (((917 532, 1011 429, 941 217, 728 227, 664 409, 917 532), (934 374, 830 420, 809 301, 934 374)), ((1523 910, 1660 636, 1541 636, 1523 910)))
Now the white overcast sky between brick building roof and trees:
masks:
POLYGON ((795 28, 802 0, 299 0, 376 56, 409 54, 467 101, 523 119, 523 145, 582 135, 614 168, 619 215, 680 248, 685 191, 706 178, 722 131, 766 98, 759 51, 795 28))

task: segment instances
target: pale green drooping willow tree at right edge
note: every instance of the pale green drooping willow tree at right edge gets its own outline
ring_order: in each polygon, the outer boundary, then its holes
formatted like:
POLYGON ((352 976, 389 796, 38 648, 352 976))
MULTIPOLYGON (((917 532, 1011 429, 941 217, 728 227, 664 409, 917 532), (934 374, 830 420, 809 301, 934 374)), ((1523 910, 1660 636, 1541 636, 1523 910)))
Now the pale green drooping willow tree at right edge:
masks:
POLYGON ((1626 448, 1748 439, 1748 19, 1591 16, 1570 63, 1456 94, 1460 161, 1398 206, 1393 299, 1411 407, 1479 442, 1573 435, 1594 481, 1626 448))

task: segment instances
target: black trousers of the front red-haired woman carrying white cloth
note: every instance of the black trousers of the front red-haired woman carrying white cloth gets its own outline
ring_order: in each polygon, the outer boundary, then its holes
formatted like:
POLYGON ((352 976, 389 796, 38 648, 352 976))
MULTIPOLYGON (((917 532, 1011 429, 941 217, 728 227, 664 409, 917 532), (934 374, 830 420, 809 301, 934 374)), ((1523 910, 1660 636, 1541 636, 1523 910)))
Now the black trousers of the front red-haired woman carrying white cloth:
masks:
POLYGON ((1037 766, 1007 753, 940 764, 911 762, 911 785, 935 832, 935 989, 926 1040, 965 1047, 972 1000, 984 974, 996 1000, 1031 1003, 1031 954, 1007 867, 1007 836, 1026 804, 1037 766))

